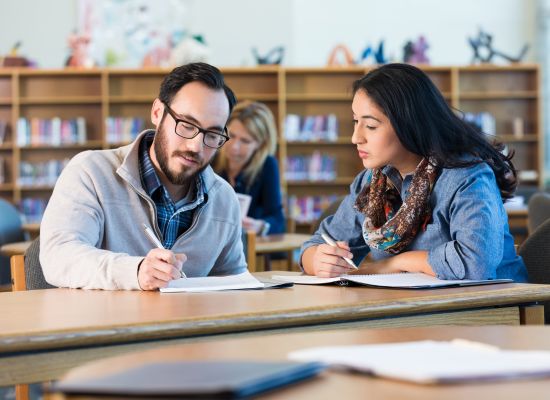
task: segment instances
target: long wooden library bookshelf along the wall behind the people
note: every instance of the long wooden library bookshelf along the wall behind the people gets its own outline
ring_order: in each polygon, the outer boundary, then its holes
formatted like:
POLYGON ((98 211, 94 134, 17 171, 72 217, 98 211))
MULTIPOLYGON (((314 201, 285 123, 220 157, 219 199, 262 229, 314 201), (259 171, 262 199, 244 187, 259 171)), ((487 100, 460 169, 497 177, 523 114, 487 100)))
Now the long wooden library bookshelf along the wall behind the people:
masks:
MULTIPOLYGON (((447 102, 469 113, 490 113, 497 137, 514 149, 522 186, 541 187, 542 122, 540 71, 537 65, 421 66, 447 102), (518 129, 518 125, 521 129, 518 129)), ((284 68, 276 66, 222 68, 239 100, 257 100, 273 111, 279 128, 277 158, 282 188, 292 196, 341 195, 362 165, 351 144, 353 132, 351 86, 368 67, 284 68), (333 141, 291 141, 285 138, 289 114, 336 116, 333 141), (334 160, 334 178, 287 180, 288 157, 318 152, 334 160)), ((15 204, 27 198, 47 201, 52 185, 21 184, 20 163, 70 158, 87 149, 108 149, 128 142, 107 132, 107 118, 139 118, 151 127, 150 109, 167 69, 0 70, 0 121, 7 129, 0 141, 0 197, 15 204), (83 118, 86 139, 77 144, 18 142, 17 123, 26 119, 83 118)), ((311 224, 298 223, 309 232, 311 224)))

